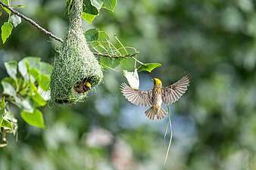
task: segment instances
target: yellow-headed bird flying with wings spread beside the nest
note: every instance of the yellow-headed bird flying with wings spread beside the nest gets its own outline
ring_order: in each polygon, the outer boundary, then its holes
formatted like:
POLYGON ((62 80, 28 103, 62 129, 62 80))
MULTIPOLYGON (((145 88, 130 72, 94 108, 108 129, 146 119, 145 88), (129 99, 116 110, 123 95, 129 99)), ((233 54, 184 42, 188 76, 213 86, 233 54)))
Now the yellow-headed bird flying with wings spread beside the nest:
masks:
POLYGON ((134 88, 130 88, 126 83, 120 85, 120 89, 132 104, 139 105, 141 107, 149 107, 145 111, 145 116, 149 119, 154 120, 155 116, 157 119, 163 119, 167 115, 167 110, 161 107, 161 104, 173 104, 176 100, 186 92, 189 86, 189 75, 186 74, 179 81, 173 83, 173 85, 163 87, 160 79, 153 79, 154 87, 148 91, 139 91, 134 88))

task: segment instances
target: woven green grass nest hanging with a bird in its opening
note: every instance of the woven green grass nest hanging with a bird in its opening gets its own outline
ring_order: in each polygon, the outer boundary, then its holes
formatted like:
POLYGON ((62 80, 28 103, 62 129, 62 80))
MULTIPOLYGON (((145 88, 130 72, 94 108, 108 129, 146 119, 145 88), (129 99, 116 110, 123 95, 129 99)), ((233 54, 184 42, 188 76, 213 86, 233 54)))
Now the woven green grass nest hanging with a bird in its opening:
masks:
POLYGON ((52 100, 76 103, 86 100, 89 91, 76 92, 80 82, 89 82, 92 87, 103 81, 98 60, 89 50, 82 29, 83 0, 74 0, 70 9, 70 29, 55 57, 51 77, 52 100))

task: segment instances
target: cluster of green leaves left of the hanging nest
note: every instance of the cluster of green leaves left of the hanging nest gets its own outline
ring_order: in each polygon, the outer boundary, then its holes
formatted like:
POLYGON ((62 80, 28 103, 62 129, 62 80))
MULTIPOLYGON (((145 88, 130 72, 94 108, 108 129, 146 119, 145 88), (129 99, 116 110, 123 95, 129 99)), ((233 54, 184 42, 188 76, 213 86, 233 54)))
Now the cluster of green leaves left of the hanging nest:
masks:
POLYGON ((20 108, 20 116, 25 122, 38 128, 45 127, 39 107, 44 107, 49 100, 52 66, 40 60, 39 57, 24 57, 19 62, 13 60, 5 63, 8 77, 2 79, 3 91, 0 93, 2 134, 6 129, 14 128, 14 114, 8 102, 20 108))

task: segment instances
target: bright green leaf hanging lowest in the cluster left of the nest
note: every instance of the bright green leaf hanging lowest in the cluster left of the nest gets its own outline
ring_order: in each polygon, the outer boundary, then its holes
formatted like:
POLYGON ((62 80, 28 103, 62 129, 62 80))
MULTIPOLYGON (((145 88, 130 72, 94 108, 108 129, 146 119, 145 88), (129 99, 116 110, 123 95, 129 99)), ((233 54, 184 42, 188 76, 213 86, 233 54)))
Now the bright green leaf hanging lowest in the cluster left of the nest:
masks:
POLYGON ((40 110, 34 110, 33 113, 28 113, 23 110, 21 112, 21 117, 29 125, 33 125, 38 128, 45 128, 44 119, 42 117, 42 112, 40 110))

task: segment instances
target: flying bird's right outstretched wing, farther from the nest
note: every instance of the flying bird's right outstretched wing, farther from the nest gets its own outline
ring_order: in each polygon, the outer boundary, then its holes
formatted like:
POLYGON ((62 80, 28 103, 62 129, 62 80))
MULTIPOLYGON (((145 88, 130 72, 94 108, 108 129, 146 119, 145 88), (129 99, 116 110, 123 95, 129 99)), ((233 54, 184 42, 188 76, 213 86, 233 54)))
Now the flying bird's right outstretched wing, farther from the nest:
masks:
POLYGON ((178 82, 173 83, 173 85, 162 88, 162 99, 164 104, 173 104, 176 100, 179 100, 188 89, 189 82, 189 75, 186 74, 178 82))

